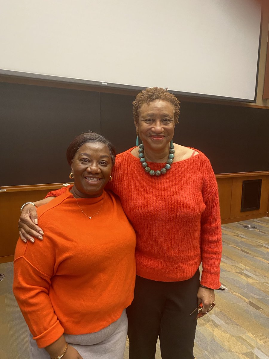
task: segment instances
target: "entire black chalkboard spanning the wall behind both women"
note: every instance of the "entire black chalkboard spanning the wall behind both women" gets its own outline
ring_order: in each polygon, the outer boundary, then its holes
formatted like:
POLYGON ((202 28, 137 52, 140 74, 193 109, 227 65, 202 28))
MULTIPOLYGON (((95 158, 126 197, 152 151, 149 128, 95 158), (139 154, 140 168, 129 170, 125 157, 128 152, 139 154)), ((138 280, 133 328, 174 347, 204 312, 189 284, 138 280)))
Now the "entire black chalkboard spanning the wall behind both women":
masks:
MULTIPOLYGON (((64 183, 76 135, 135 145, 134 96, 0 83, 1 186, 64 183)), ((181 101, 174 142, 203 151, 215 173, 269 170, 269 110, 181 101)), ((128 166, 128 164, 127 164, 128 166)))

